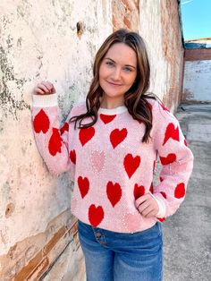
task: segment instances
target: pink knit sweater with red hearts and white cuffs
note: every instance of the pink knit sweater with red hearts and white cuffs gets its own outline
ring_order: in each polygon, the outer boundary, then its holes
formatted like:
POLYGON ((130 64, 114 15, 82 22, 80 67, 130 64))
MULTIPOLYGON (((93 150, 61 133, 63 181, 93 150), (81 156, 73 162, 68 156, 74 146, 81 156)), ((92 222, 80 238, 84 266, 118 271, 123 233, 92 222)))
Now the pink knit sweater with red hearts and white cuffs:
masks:
MULTIPOLYGON (((33 128, 38 150, 50 173, 68 171, 74 182, 72 214, 106 230, 134 233, 173 215, 185 198, 193 155, 178 120, 165 106, 149 99, 153 126, 143 143, 145 124, 134 120, 126 106, 100 107, 97 123, 74 129, 69 120, 87 112, 86 103, 73 106, 63 126, 57 95, 33 95, 33 128), (153 186, 156 159, 160 182, 153 186), (149 192, 158 203, 156 217, 143 217, 135 200, 149 192)), ((91 117, 82 123, 89 123, 91 117)), ((78 126, 77 126, 78 127, 78 126)))

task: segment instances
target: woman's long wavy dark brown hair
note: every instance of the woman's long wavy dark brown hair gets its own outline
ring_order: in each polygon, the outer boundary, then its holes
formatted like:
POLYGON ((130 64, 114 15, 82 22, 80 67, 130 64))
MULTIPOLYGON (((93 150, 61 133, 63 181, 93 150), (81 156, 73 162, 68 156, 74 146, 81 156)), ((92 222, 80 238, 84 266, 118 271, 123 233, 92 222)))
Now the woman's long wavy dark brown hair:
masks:
POLYGON ((99 84, 99 67, 108 49, 116 43, 126 44, 131 47, 137 55, 137 76, 131 89, 124 94, 124 105, 127 106, 128 112, 133 119, 142 121, 145 124, 146 130, 142 142, 147 143, 152 128, 152 113, 147 98, 156 99, 156 96, 152 93, 147 93, 150 76, 148 54, 144 40, 136 32, 123 29, 116 30, 105 39, 105 42, 97 51, 93 66, 93 80, 86 98, 87 113, 72 116, 70 121, 75 121, 76 128, 76 123, 80 120, 79 129, 89 128, 97 122, 97 111, 100 107, 100 97, 103 96, 103 89, 99 84), (87 117, 91 117, 92 121, 90 123, 82 124, 82 120, 87 117))

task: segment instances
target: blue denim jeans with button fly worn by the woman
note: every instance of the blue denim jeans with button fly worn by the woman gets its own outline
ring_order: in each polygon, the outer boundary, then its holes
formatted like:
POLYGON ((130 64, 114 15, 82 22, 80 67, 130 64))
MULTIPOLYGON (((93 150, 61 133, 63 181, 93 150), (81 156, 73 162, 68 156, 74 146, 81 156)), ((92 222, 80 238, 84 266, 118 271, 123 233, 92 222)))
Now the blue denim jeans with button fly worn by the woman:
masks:
POLYGON ((122 234, 78 221, 88 281, 161 281, 163 234, 160 223, 122 234))

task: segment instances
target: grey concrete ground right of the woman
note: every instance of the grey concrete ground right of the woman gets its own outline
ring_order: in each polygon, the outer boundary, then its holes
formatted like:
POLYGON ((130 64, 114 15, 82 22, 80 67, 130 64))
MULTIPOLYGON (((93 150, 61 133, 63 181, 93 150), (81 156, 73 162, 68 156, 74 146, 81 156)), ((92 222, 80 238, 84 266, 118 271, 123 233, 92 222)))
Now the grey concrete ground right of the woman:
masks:
POLYGON ((164 228, 164 281, 211 281, 211 105, 178 108, 194 168, 181 208, 164 228))

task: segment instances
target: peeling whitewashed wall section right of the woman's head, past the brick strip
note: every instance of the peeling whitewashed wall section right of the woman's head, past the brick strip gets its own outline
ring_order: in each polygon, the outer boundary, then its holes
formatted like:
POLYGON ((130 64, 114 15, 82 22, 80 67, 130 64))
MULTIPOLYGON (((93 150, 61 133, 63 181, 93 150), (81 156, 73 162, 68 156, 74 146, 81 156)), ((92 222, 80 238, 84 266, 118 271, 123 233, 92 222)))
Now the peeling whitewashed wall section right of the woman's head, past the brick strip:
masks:
POLYGON ((148 45, 151 91, 175 111, 181 95, 183 47, 178 1, 139 1, 140 34, 148 45))

